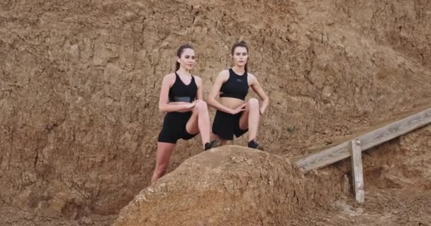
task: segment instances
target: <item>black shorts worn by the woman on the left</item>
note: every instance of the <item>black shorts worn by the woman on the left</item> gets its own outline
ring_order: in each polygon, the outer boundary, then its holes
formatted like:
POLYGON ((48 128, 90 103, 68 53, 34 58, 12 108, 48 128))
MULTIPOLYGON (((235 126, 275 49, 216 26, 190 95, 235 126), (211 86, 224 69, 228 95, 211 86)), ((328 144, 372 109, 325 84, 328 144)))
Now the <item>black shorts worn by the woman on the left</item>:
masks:
POLYGON ((186 130, 192 112, 168 112, 163 120, 162 131, 159 133, 159 142, 177 143, 178 139, 189 140, 196 134, 190 134, 186 130))

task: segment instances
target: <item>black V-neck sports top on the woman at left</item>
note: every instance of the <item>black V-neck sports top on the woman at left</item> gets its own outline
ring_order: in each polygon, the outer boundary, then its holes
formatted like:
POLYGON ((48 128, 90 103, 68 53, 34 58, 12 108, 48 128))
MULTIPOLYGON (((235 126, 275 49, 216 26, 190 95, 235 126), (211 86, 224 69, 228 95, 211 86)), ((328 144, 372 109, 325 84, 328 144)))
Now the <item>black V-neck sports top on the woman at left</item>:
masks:
POLYGON ((169 88, 169 102, 193 102, 196 99, 198 85, 191 76, 191 82, 186 85, 181 81, 177 72, 175 72, 175 83, 169 88))

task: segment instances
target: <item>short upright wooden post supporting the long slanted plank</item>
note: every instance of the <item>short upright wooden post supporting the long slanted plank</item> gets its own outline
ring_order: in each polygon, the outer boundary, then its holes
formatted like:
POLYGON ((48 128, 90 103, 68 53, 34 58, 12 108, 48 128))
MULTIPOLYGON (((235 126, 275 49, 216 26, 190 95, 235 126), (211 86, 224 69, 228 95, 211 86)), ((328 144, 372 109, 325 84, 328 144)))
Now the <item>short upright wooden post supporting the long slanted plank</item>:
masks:
POLYGON ((354 186, 354 197, 357 202, 365 201, 364 176, 362 174, 362 150, 361 141, 352 141, 352 178, 354 186))

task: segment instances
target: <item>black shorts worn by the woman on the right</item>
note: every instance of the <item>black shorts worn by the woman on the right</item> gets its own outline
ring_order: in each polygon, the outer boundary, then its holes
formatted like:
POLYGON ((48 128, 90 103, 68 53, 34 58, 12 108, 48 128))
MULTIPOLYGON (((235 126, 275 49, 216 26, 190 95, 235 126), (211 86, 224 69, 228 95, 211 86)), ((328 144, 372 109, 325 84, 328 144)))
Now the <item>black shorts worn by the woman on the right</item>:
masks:
POLYGON ((234 134, 238 138, 242 134, 247 133, 248 129, 240 129, 240 117, 242 113, 229 114, 217 110, 213 121, 213 133, 220 136, 223 140, 233 140, 234 134))

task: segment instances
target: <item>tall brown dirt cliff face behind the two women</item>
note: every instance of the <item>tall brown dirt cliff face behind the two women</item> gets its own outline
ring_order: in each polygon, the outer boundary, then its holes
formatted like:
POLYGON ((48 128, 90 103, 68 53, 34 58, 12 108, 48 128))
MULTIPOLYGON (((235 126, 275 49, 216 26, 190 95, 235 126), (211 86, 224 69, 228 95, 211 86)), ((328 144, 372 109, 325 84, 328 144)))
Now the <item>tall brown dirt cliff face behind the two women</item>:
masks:
MULTIPOLYGON (((161 79, 185 42, 206 93, 230 45, 250 42, 272 99, 259 131, 269 153, 386 119, 431 96, 430 12, 423 0, 2 1, 0 201, 118 213, 149 184, 161 79)), ((170 170, 200 152, 180 142, 170 170)))

